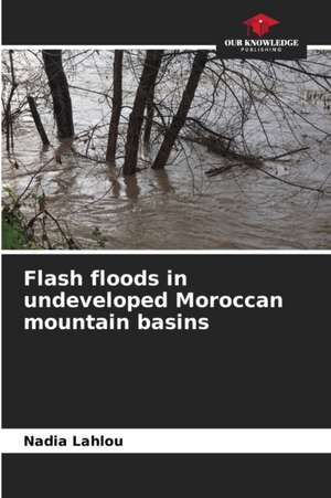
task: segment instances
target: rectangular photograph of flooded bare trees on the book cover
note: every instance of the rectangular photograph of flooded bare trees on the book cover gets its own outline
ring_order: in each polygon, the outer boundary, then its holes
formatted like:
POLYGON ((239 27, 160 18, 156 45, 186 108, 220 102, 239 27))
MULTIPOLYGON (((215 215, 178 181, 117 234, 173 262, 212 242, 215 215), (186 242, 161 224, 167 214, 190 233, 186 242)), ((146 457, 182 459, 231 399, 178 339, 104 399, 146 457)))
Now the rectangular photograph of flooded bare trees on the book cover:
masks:
POLYGON ((331 248, 330 83, 327 47, 6 47, 2 248, 331 248))

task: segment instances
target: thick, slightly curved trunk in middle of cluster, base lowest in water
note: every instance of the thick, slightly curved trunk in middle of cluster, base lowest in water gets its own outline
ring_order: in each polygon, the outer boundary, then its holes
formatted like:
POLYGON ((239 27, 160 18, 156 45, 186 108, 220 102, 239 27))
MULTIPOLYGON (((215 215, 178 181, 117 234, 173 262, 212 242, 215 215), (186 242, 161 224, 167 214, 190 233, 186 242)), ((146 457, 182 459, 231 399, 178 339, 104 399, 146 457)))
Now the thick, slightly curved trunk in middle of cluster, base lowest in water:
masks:
POLYGON ((124 174, 135 174, 137 170, 140 133, 143 121, 143 112, 150 89, 154 86, 163 51, 148 50, 143 63, 142 74, 139 81, 134 108, 129 118, 126 141, 124 174))

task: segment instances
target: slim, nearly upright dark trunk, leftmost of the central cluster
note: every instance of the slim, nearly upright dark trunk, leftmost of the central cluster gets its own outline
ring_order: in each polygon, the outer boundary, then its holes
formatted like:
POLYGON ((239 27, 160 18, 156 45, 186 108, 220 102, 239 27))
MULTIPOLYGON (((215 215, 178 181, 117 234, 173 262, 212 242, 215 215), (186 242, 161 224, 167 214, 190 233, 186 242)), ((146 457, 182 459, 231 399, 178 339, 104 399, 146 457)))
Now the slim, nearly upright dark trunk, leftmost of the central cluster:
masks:
POLYGON ((108 145, 106 152, 106 161, 115 165, 116 147, 118 138, 118 125, 122 104, 122 50, 116 50, 114 54, 114 88, 113 88, 113 109, 108 134, 108 145))

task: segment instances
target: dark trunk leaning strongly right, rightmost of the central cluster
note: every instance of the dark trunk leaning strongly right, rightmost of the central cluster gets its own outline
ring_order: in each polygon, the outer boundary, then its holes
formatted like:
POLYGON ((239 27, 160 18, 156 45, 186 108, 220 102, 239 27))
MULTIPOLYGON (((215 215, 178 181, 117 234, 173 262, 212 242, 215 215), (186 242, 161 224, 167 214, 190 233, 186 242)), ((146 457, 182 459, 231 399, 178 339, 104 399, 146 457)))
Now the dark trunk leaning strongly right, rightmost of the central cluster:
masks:
POLYGON ((195 54, 192 71, 189 77, 189 81, 186 83, 185 89, 182 95, 182 99, 180 103, 180 106, 178 108, 178 112, 175 113, 170 127, 166 131, 162 145, 160 147, 160 150, 154 159, 154 162, 152 163, 153 169, 162 169, 167 165, 169 160, 169 156, 171 153, 172 147, 174 146, 174 142, 180 134, 180 130, 185 124, 192 100, 195 95, 196 87, 199 85, 201 75, 203 73, 204 66, 207 61, 207 52, 206 51, 199 51, 195 54))

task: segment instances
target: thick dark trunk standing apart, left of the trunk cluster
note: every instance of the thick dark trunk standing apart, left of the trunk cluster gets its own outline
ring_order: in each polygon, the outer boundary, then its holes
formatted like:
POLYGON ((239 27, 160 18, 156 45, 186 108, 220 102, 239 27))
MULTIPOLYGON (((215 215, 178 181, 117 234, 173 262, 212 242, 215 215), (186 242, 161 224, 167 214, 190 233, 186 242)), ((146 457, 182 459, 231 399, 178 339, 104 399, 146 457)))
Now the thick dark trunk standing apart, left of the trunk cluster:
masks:
POLYGON ((43 50, 45 72, 53 98, 58 138, 72 138, 75 134, 72 100, 62 65, 61 50, 43 50))

